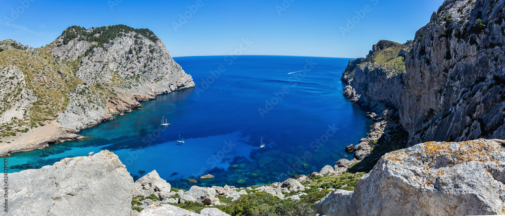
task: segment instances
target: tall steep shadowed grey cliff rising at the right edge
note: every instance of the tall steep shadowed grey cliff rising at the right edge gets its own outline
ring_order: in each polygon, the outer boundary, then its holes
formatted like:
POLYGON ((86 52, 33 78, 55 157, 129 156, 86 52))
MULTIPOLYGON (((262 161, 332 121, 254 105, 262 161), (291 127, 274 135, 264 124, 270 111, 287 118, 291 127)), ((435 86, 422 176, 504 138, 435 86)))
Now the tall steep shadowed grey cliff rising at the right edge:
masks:
POLYGON ((407 55, 400 121, 419 141, 505 137, 505 1, 445 1, 407 55))

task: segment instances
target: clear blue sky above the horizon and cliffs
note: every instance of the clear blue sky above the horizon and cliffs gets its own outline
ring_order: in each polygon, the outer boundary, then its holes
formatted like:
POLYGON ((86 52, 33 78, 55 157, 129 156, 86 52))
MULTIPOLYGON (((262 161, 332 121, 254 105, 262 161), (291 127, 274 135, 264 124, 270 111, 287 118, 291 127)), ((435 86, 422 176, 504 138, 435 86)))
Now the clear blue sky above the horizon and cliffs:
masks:
POLYGON ((248 38, 252 44, 242 55, 358 58, 365 57, 381 39, 402 43, 413 39, 442 3, 4 0, 0 3, 0 40, 14 39, 40 47, 55 40, 68 26, 125 24, 152 30, 174 57, 228 55, 248 38), (181 19, 181 15, 186 18, 181 19))

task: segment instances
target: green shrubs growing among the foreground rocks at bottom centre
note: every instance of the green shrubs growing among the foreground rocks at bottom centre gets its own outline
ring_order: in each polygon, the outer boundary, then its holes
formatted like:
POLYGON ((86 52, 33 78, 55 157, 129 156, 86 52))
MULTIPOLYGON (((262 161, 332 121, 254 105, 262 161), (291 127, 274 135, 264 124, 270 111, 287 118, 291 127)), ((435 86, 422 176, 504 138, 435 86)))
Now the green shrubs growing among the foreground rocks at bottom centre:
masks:
MULTIPOLYGON (((224 205, 213 206, 220 210, 233 215, 233 216, 253 216, 253 215, 317 215, 314 203, 324 198, 332 189, 342 189, 353 191, 358 180, 363 177, 365 173, 343 173, 340 175, 325 175, 313 176, 310 181, 301 183, 308 187, 304 191, 283 193, 285 197, 297 195, 304 192, 307 195, 300 195, 299 200, 292 200, 290 198, 280 199, 272 194, 258 191, 260 185, 253 185, 245 188, 249 193, 241 195, 237 200, 231 201, 231 198, 216 195, 220 202, 224 205), (320 189, 321 188, 321 189, 320 189)), ((271 186, 271 185, 267 185, 271 186)), ((175 189, 173 191, 178 191, 175 189)), ((172 197, 177 198, 177 197, 172 197)), ((132 199, 132 209, 140 211, 142 208, 141 201, 144 199, 158 200, 157 197, 134 197, 132 199)), ((199 213, 202 209, 209 206, 203 205, 199 202, 186 201, 184 203, 167 203, 172 204, 190 211, 199 213)))

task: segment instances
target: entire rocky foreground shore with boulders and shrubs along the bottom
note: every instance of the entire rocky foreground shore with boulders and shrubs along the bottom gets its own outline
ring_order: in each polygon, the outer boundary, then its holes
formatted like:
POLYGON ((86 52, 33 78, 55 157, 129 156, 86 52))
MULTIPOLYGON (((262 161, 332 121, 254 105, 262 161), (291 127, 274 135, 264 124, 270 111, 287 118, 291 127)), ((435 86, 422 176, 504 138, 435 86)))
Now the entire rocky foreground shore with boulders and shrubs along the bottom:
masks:
POLYGON ((235 215, 256 205, 279 208, 271 204, 309 215, 505 213, 504 155, 505 140, 427 142, 386 153, 368 174, 348 173, 356 161, 341 159, 284 182, 186 191, 156 171, 133 182, 118 157, 104 150, 9 174, 14 204, 7 215, 235 215))

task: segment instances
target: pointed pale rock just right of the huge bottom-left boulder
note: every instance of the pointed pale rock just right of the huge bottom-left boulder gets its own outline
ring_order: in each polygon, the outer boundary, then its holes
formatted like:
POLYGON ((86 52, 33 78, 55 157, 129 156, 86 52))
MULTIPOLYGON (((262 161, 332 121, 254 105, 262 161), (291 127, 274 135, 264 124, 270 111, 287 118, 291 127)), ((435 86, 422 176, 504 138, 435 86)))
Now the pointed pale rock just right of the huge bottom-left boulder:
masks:
POLYGON ((153 170, 135 181, 133 196, 149 196, 155 194, 163 200, 175 195, 175 192, 171 192, 170 189, 170 183, 162 179, 156 170, 153 170))

